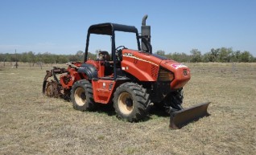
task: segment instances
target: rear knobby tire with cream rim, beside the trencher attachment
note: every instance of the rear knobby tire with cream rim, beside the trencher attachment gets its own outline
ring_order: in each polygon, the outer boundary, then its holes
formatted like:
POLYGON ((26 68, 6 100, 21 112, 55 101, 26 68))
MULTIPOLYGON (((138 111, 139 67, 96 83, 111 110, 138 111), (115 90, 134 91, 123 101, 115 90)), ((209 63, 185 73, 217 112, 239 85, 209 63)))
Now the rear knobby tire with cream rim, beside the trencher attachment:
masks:
POLYGON ((76 81, 72 86, 71 100, 76 110, 93 111, 96 106, 93 100, 92 84, 88 80, 76 81))

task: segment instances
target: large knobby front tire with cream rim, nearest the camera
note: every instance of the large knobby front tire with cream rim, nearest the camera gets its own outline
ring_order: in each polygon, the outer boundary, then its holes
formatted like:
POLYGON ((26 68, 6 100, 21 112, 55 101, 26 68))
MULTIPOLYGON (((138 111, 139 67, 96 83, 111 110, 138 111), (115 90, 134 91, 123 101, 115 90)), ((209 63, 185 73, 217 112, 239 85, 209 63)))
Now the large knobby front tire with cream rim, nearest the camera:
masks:
POLYGON ((120 85, 114 92, 114 108, 117 116, 130 122, 147 116, 151 100, 147 90, 134 83, 120 85))

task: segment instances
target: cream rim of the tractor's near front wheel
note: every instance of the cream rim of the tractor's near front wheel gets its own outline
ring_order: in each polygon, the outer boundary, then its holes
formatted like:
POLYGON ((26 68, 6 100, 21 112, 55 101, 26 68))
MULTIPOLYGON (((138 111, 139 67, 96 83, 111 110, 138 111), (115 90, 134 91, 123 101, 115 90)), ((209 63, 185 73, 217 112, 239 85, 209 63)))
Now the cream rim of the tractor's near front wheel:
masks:
POLYGON ((129 115, 134 109, 134 101, 128 92, 122 92, 118 97, 118 107, 120 111, 129 115))

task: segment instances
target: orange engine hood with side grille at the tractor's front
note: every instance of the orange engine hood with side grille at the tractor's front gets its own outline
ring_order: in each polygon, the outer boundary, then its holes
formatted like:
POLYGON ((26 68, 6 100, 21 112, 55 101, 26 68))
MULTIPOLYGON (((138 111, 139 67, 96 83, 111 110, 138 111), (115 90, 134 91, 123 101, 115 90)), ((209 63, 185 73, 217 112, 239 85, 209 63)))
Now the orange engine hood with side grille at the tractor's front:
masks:
POLYGON ((191 77, 182 63, 129 49, 122 51, 122 70, 140 81, 169 81, 171 90, 183 88, 191 77))

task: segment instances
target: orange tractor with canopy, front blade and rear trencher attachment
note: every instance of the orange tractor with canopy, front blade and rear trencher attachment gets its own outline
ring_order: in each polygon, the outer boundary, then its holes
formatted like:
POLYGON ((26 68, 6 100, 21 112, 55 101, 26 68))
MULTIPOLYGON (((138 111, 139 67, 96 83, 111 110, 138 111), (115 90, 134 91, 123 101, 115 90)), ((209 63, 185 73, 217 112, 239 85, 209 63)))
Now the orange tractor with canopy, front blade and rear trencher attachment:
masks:
POLYGON ((101 23, 89 27, 84 62, 67 63, 68 68, 53 67, 43 80, 43 94, 72 100, 73 108, 91 111, 97 104, 113 104, 117 116, 130 122, 147 116, 152 104, 171 115, 171 128, 207 116, 209 103, 184 109, 183 87, 190 70, 181 63, 152 53, 151 27, 142 19, 142 32, 136 27, 101 23), (115 32, 134 33, 138 49, 116 46, 115 32), (90 35, 109 35, 111 52, 99 51, 89 59, 90 35), (60 75, 60 79, 56 75, 60 75), (49 80, 49 77, 53 77, 49 80))

